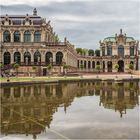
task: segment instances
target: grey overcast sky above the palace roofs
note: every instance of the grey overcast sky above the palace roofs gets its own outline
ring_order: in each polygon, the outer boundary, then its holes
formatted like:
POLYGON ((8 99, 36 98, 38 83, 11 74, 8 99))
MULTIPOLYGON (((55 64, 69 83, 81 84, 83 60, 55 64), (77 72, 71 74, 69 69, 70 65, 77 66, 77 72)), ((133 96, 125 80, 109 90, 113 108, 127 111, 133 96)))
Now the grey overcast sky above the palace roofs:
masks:
POLYGON ((99 40, 120 28, 139 40, 139 0, 2 0, 2 14, 32 14, 51 20, 54 31, 75 47, 99 48, 99 40))

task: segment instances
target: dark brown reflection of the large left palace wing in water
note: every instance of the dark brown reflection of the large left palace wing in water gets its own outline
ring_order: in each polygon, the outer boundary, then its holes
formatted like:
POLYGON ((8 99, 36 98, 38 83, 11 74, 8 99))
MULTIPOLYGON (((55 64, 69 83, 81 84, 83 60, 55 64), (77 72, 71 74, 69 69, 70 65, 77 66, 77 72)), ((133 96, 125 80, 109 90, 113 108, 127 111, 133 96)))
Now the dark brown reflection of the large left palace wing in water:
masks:
POLYGON ((59 106, 67 107, 74 99, 75 85, 34 85, 2 88, 2 134, 37 134, 50 128, 59 106), (69 90, 71 89, 71 90, 69 90), (72 92, 70 94, 70 92, 72 92))

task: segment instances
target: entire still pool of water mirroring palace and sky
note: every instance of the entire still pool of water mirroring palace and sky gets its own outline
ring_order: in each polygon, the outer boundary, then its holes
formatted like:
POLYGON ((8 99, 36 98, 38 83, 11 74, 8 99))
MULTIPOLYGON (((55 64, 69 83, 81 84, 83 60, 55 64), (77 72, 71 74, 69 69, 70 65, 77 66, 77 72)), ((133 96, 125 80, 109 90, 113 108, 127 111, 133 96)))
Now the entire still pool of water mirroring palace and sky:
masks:
POLYGON ((139 139, 139 82, 1 88, 1 139, 139 139))

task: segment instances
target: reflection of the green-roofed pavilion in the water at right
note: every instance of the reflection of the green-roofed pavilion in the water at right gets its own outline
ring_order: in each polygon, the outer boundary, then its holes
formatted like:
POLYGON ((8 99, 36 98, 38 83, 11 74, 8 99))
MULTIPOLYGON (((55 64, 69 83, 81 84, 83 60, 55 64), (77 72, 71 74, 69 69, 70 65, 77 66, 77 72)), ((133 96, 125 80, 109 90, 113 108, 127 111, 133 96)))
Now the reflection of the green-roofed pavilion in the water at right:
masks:
POLYGON ((115 109, 120 112, 120 117, 126 114, 126 109, 133 109, 139 104, 138 84, 133 82, 109 83, 106 90, 100 94, 100 105, 104 108, 115 109))

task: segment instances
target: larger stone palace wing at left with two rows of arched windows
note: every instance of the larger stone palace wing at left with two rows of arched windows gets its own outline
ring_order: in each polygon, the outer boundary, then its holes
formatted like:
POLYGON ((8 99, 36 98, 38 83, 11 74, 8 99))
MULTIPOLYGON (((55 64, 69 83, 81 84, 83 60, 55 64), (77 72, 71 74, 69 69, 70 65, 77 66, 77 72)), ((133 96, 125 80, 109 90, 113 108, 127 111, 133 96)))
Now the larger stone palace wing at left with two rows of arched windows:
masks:
POLYGON ((76 68, 74 45, 66 38, 60 42, 50 21, 38 16, 36 9, 33 15, 1 16, 0 26, 0 62, 4 65, 18 62, 23 70, 33 65, 43 69, 48 64, 76 68))

